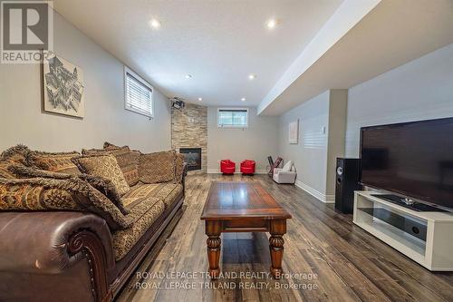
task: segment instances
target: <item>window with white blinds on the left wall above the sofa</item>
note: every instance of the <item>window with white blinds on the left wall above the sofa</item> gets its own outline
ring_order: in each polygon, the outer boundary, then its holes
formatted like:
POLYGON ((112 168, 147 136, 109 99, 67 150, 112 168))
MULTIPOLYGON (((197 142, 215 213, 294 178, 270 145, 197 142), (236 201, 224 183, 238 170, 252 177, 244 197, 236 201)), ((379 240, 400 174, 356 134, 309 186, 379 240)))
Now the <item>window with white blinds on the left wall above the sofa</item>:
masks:
POLYGON ((154 117, 152 86, 126 66, 124 66, 124 106, 130 112, 149 118, 154 117))

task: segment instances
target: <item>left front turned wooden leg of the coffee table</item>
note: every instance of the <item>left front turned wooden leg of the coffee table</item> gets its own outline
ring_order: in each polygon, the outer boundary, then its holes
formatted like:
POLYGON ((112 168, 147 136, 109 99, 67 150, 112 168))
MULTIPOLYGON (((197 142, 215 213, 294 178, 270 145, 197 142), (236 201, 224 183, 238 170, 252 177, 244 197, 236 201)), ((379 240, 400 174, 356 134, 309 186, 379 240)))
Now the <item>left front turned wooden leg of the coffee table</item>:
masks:
POLYGON ((206 234, 207 234, 207 260, 209 261, 209 275, 211 278, 217 278, 220 274, 218 268, 218 261, 220 259, 220 221, 206 221, 206 234))

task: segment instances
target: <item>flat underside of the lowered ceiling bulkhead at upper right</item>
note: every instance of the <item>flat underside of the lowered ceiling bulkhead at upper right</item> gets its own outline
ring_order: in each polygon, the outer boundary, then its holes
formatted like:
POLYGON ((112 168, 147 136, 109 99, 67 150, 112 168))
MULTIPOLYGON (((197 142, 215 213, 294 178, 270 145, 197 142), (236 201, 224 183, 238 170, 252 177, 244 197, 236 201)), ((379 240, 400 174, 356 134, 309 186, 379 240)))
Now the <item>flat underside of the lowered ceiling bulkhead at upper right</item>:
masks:
POLYGON ((258 112, 280 115, 325 90, 351 88, 452 43, 452 0, 382 0, 295 80, 266 96, 258 112))

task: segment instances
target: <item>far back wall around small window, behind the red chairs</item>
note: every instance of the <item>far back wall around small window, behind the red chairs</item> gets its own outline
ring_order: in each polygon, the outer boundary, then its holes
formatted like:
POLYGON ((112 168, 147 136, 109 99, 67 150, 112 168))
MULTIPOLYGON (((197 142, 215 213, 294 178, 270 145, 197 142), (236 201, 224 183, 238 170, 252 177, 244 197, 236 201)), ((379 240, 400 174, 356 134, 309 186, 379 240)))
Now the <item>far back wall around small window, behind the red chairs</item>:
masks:
POLYGON ((249 108, 248 128, 217 127, 217 107, 207 108, 207 171, 219 172, 220 160, 236 162, 236 171, 244 160, 255 160, 256 170, 265 172, 267 156, 277 154, 278 117, 257 116, 249 108))

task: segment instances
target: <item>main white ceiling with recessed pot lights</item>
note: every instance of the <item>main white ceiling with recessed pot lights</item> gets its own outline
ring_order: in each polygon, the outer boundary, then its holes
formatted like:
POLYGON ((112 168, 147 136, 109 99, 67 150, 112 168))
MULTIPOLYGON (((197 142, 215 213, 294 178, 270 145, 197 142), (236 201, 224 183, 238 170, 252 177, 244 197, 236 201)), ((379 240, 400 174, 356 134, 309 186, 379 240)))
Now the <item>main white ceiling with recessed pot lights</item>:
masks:
POLYGON ((60 15, 162 93, 222 106, 259 104, 341 4, 53 0, 60 15), (269 31, 265 22, 272 17, 280 24, 269 31), (149 27, 151 18, 159 20, 159 30, 149 27), (249 73, 256 79, 248 80, 249 73))

